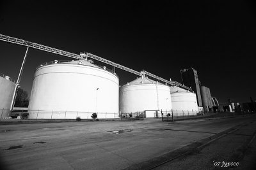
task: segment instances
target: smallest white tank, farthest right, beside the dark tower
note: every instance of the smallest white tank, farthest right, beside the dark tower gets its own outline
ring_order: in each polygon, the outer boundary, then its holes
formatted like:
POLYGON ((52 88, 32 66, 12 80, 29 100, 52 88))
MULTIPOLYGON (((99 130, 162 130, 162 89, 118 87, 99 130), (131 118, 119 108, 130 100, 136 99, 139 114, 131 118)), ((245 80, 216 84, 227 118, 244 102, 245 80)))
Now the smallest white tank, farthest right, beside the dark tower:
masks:
POLYGON ((180 87, 170 87, 174 115, 195 114, 198 111, 196 94, 180 87), (176 114, 177 113, 177 114, 176 114))

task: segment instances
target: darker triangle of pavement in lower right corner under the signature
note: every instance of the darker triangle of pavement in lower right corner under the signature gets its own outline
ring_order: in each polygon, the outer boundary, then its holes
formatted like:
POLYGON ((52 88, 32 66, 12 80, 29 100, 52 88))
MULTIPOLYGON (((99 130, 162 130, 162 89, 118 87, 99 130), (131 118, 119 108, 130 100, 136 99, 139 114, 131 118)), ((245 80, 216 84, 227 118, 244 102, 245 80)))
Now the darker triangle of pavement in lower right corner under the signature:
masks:
POLYGON ((256 118, 209 145, 155 169, 255 169, 256 118), (232 165, 231 166, 231 162, 232 165), (229 164, 228 164, 229 163, 229 164))

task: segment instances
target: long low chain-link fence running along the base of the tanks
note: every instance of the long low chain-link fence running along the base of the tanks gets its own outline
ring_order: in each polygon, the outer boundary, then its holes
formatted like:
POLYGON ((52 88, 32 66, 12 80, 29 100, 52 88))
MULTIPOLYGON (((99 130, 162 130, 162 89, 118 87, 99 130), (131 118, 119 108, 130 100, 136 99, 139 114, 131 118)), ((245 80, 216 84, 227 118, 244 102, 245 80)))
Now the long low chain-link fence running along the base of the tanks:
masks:
MULTIPOLYGON (((194 111, 194 110, 169 110, 169 111, 159 111, 159 110, 146 110, 137 111, 135 113, 96 113, 96 120, 144 120, 145 118, 161 118, 162 121, 175 121, 175 120, 186 120, 193 118, 211 118, 211 117, 234 117, 243 115, 252 115, 255 112, 221 112, 221 113, 211 113, 204 111, 194 111)), ((0 121, 4 119, 17 118, 19 121, 22 120, 76 120, 80 118, 81 120, 93 120, 93 112, 89 111, 46 111, 46 110, 0 110, 0 121)))

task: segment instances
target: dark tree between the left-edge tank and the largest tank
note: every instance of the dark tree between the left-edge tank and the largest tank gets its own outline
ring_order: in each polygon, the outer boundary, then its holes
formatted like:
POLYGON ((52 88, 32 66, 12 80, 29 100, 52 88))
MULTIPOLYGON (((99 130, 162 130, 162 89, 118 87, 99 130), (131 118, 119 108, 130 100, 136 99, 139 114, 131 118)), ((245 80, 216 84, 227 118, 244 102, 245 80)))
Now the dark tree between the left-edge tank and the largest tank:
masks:
POLYGON ((29 103, 28 92, 18 88, 14 106, 21 107, 21 108, 28 108, 28 103, 29 103))

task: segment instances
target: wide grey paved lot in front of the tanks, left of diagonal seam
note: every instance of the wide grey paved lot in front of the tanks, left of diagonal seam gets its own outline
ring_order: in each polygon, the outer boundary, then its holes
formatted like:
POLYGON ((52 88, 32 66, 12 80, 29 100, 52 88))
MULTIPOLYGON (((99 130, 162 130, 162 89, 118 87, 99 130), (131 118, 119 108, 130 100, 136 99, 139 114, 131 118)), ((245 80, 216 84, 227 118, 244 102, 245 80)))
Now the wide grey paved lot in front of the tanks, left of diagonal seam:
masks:
POLYGON ((1 160, 8 169, 124 169, 252 117, 0 125, 1 160))

